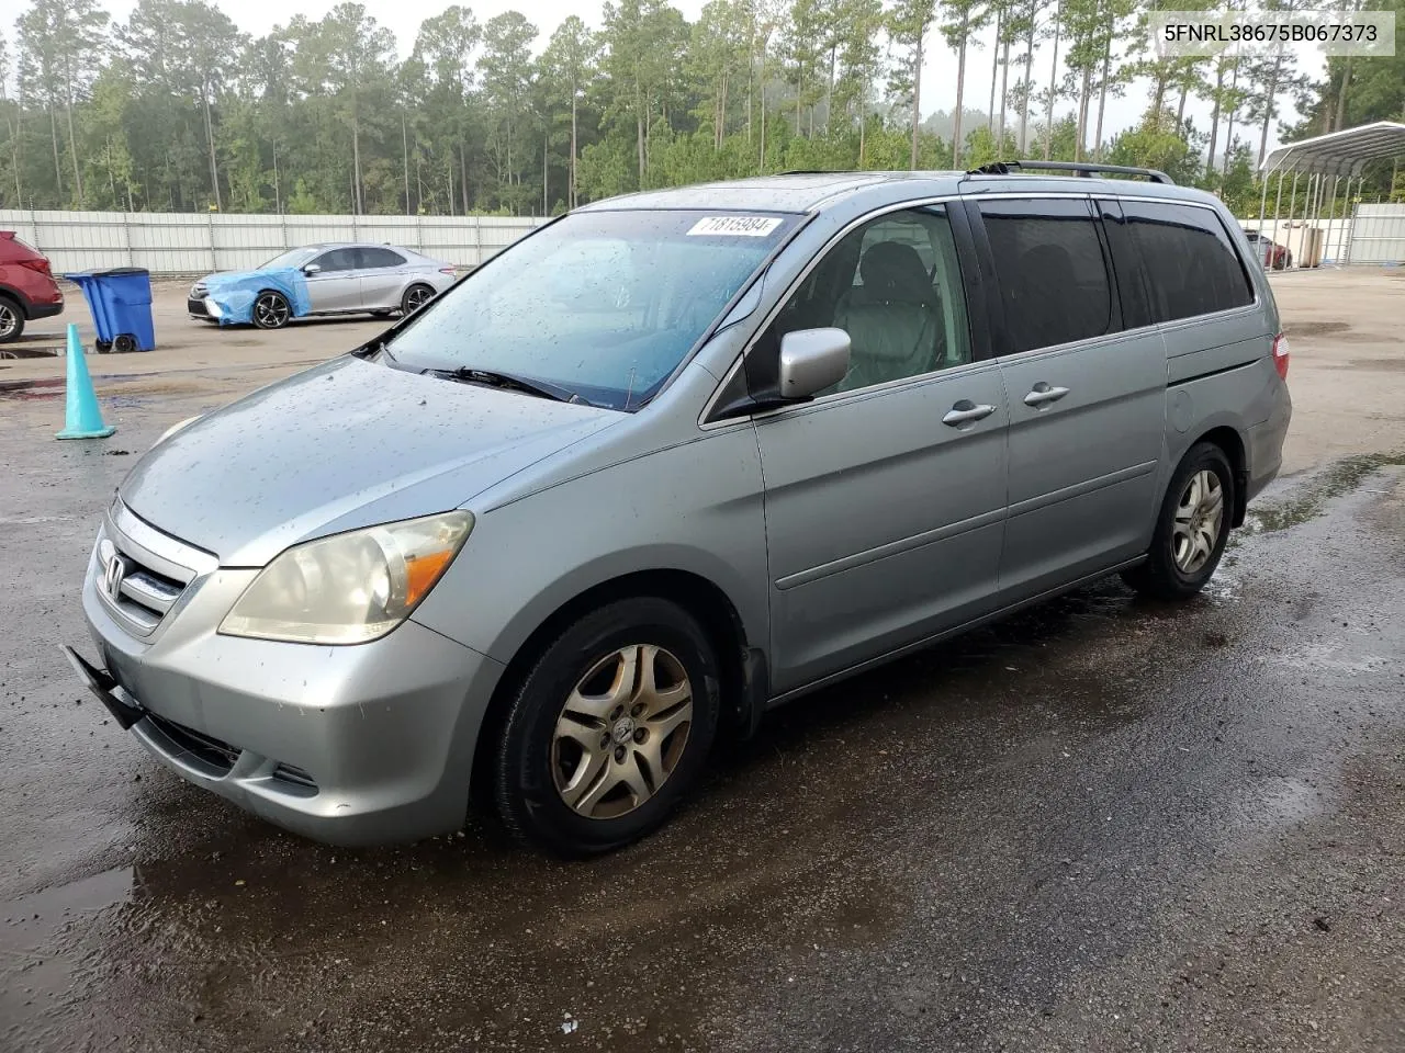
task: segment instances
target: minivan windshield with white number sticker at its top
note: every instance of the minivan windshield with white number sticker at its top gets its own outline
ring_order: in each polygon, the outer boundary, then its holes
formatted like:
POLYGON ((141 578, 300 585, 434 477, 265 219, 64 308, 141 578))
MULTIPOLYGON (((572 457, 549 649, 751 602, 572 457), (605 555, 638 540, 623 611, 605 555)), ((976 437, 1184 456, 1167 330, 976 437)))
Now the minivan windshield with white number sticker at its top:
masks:
POLYGON ((389 341, 406 369, 541 380, 635 409, 669 378, 797 216, 582 212, 471 274, 389 341))

